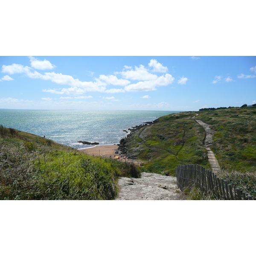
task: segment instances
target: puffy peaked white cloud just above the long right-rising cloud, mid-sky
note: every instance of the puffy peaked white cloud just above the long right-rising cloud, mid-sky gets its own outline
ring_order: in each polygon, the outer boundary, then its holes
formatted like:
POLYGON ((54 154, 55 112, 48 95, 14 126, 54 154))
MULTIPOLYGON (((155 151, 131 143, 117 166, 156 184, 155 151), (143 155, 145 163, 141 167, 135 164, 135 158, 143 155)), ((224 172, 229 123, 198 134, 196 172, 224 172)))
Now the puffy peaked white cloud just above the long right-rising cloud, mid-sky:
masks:
POLYGON ((157 79, 157 75, 151 74, 148 70, 140 65, 139 67, 135 66, 135 70, 126 70, 122 72, 116 72, 122 75, 125 79, 131 80, 154 80, 157 79))

